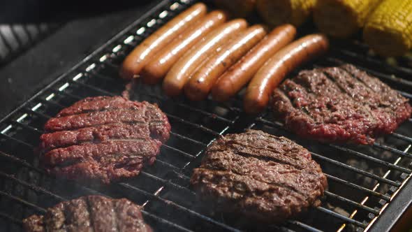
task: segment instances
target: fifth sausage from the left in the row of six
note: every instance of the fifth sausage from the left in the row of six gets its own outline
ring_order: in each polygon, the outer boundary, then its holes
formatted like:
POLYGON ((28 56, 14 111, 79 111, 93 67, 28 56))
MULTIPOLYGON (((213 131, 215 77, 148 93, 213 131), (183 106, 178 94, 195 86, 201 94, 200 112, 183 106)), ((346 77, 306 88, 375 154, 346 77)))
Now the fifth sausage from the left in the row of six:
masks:
POLYGON ((253 78, 258 69, 274 53, 295 38, 296 29, 291 24, 284 24, 273 29, 262 41, 253 47, 247 55, 216 80, 212 87, 212 96, 216 101, 226 101, 234 96, 253 78))

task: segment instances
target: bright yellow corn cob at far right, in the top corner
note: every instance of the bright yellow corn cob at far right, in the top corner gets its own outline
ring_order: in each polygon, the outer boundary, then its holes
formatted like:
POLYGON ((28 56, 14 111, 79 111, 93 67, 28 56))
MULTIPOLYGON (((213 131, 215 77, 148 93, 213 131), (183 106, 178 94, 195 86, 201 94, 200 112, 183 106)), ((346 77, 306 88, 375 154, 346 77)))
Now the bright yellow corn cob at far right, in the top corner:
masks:
POLYGON ((395 57, 412 48, 412 0, 385 0, 371 14, 363 37, 379 55, 395 57))

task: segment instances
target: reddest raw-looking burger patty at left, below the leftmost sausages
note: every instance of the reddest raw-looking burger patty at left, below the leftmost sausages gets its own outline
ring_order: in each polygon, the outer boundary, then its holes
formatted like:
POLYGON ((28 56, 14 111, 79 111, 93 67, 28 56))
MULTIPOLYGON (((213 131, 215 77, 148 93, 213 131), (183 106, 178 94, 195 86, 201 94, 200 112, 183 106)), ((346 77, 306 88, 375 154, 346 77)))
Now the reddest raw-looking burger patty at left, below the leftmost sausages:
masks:
POLYGON ((120 96, 89 97, 45 124, 41 160, 49 173, 110 183, 153 164, 169 138, 170 124, 147 102, 120 96))

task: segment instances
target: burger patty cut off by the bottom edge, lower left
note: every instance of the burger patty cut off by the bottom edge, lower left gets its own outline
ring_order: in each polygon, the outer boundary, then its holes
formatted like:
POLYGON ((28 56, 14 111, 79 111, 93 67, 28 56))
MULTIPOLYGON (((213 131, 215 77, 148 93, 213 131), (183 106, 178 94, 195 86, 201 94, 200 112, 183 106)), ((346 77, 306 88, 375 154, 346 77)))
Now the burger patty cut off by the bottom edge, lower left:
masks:
POLYGON ((112 231, 152 232, 143 221, 140 206, 125 198, 82 196, 48 208, 45 215, 23 220, 27 232, 112 231))

